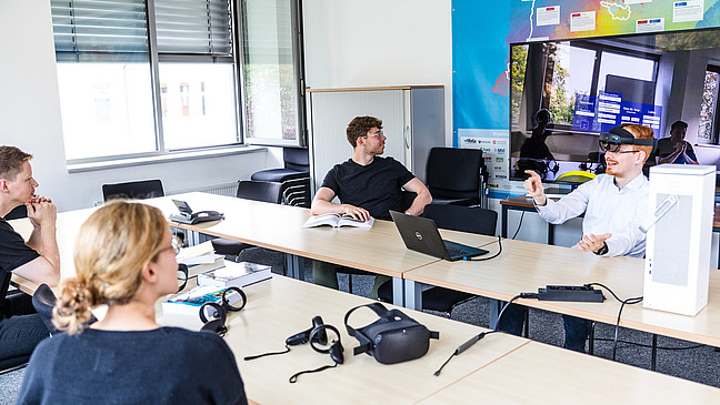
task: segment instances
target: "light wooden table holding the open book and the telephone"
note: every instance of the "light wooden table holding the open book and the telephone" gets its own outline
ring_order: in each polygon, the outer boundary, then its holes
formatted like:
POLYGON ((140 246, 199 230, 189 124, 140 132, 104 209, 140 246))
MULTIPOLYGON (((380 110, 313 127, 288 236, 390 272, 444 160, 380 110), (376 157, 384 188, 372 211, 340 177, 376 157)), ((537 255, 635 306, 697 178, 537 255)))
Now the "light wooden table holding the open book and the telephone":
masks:
MULTIPOLYGON (((183 225, 199 233, 226 237, 257 246, 268 247, 293 256, 329 262, 342 266, 364 270, 393 277, 393 302, 403 305, 402 273, 439 259, 419 254, 406 249, 394 224, 376 220, 372 229, 320 226, 303 229, 310 217, 310 210, 270 204, 258 201, 204 193, 188 193, 172 196, 187 201, 193 211, 216 210, 224 213, 223 221, 197 225, 183 225)), ((177 213, 171 198, 147 200, 166 214, 177 213)), ((443 231, 443 236, 456 242, 480 246, 489 242, 479 236, 454 231, 443 231)), ((298 262, 290 269, 297 269, 298 262)), ((290 272, 300 277, 299 272, 290 272)), ((403 305, 404 306, 404 305, 403 305)))

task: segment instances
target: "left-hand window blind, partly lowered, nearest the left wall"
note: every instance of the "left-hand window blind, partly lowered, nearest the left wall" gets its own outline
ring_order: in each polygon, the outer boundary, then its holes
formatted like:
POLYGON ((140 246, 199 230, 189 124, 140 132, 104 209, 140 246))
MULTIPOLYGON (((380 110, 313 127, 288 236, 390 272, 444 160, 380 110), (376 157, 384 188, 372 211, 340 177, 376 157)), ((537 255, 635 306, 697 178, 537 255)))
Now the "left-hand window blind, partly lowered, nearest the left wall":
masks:
POLYGON ((58 61, 147 60, 143 0, 51 0, 51 7, 58 61))

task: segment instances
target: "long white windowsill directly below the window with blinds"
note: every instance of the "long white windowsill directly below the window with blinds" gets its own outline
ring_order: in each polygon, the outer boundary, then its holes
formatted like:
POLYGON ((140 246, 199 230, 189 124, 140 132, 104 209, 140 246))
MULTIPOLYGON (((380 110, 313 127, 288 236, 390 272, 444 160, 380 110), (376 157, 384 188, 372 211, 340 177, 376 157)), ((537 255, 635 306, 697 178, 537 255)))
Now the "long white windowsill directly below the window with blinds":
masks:
POLYGON ((92 172, 98 170, 130 168, 130 166, 156 164, 156 163, 171 163, 171 162, 179 162, 179 161, 187 161, 187 160, 229 156, 233 154, 263 152, 267 150, 268 149, 264 146, 241 145, 241 146, 230 146, 230 148, 222 148, 222 149, 171 152, 171 153, 160 154, 154 156, 114 159, 114 160, 107 160, 102 162, 92 162, 92 163, 72 163, 72 164, 68 164, 68 173, 82 173, 82 172, 92 172))

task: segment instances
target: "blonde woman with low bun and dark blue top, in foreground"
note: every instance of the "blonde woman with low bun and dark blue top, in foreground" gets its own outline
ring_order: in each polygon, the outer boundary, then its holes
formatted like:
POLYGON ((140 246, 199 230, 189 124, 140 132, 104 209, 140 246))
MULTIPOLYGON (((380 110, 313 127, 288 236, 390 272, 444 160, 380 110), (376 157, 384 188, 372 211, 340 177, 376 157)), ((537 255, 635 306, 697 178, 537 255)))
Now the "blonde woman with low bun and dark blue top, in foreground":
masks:
POLYGON ((54 334, 36 348, 18 404, 247 404, 234 356, 214 333, 160 327, 158 298, 178 291, 179 245, 160 210, 116 201, 76 239, 54 334), (91 307, 108 305, 90 326, 91 307))

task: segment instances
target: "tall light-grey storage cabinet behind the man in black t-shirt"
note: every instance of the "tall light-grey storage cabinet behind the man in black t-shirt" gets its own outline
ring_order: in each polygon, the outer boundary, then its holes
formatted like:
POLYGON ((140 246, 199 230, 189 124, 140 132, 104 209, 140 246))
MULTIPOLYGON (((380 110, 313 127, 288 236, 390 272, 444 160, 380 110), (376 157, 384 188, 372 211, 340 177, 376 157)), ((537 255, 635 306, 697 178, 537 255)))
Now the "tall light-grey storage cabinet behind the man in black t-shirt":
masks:
POLYGON ((444 146, 444 88, 403 85, 361 89, 308 89, 308 131, 312 193, 333 165, 352 158, 348 123, 359 115, 382 120, 392 156, 424 182, 428 153, 444 146))

